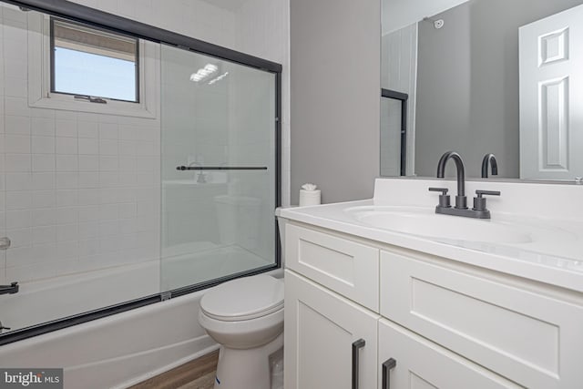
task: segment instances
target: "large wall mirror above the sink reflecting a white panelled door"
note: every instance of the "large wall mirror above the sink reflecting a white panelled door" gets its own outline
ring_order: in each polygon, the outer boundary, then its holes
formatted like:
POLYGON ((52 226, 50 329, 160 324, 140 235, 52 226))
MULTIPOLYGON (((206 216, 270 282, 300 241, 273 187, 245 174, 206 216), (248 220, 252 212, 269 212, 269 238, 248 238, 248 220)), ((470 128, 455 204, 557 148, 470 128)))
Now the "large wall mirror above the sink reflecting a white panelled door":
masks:
POLYGON ((497 178, 583 176, 582 4, 383 0, 381 175, 455 150, 469 178, 489 153, 497 178))

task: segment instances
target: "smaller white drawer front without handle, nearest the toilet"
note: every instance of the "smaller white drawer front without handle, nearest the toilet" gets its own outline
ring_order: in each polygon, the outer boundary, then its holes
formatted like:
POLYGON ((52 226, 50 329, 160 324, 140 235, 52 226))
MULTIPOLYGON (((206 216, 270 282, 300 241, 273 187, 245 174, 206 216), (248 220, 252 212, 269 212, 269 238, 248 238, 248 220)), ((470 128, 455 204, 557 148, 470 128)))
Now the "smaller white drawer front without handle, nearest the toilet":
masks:
POLYGON ((379 311, 379 250, 293 224, 285 228, 286 267, 379 311))

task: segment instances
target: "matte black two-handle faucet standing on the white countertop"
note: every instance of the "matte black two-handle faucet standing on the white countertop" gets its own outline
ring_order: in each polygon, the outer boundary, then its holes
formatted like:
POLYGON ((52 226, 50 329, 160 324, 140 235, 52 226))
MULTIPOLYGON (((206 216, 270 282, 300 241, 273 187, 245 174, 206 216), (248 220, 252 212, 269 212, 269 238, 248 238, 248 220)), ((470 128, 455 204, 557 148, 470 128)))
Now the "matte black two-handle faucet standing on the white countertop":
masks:
MULTIPOLYGON (((494 155, 492 155, 494 158, 494 155)), ((457 174, 457 196, 455 196, 455 207, 450 205, 447 188, 429 188, 431 191, 441 192, 439 195, 439 204, 435 207, 435 213, 445 215, 464 216, 466 218, 490 219, 490 211, 486 209, 486 198, 484 196, 500 196, 499 191, 495 190, 476 190, 474 198, 474 208, 467 208, 467 198, 465 197, 465 169, 462 158, 455 151, 447 151, 437 164, 437 178, 445 178, 445 164, 449 159, 454 159, 457 174)), ((496 161, 496 159, 494 159, 496 161)), ((496 162, 495 162, 496 163, 496 162)), ((494 165, 493 165, 494 166, 494 165)), ((487 168, 487 165, 486 165, 487 168)), ((492 169, 494 174, 494 167, 492 169)), ((497 168, 496 168, 497 173, 497 168)))

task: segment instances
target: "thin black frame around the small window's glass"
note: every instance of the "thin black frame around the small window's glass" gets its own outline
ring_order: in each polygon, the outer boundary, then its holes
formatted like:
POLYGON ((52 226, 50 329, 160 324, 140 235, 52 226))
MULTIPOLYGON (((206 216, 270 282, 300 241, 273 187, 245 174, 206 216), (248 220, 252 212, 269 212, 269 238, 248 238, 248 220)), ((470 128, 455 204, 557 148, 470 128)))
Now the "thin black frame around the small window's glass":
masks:
POLYGON ((78 23, 72 20, 67 20, 64 19, 62 17, 56 17, 56 16, 48 16, 49 18, 49 39, 50 39, 50 48, 49 48, 49 54, 50 54, 50 93, 51 94, 55 94, 55 93, 59 93, 62 95, 71 95, 75 98, 75 96, 85 96, 85 97, 101 97, 103 99, 105 99, 106 101, 108 100, 112 100, 112 101, 125 101, 128 103, 134 103, 134 104, 139 104, 139 100, 140 100, 140 87, 139 87, 139 80, 140 80, 140 50, 139 50, 139 39, 137 37, 134 36, 125 36, 110 30, 106 30, 105 28, 99 28, 96 26, 87 26, 86 24, 82 24, 82 23, 78 23), (135 87, 135 91, 136 91, 136 99, 135 100, 124 100, 122 98, 113 98, 113 97, 107 97, 107 96, 94 96, 94 95, 86 95, 86 94, 81 94, 81 93, 69 93, 69 92, 63 92, 63 91, 58 91, 56 90, 55 87, 55 73, 56 73, 56 63, 55 63, 55 22, 62 22, 62 23, 66 23, 67 25, 72 25, 72 26, 80 26, 80 27, 84 27, 84 28, 88 28, 97 32, 103 32, 106 33, 107 35, 110 36, 121 36, 123 38, 126 39, 132 39, 134 41, 136 41, 136 52, 134 53, 134 56, 136 58, 135 60, 135 64, 136 64, 136 70, 134 72, 134 87, 135 87))

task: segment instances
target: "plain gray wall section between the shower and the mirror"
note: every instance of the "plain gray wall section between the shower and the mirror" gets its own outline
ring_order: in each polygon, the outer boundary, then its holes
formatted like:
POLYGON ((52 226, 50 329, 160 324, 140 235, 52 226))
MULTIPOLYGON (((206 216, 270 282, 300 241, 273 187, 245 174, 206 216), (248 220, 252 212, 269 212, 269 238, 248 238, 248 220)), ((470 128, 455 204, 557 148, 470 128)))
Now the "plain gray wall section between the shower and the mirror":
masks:
POLYGON ((380 1, 290 0, 292 204, 373 196, 379 175, 380 1))

